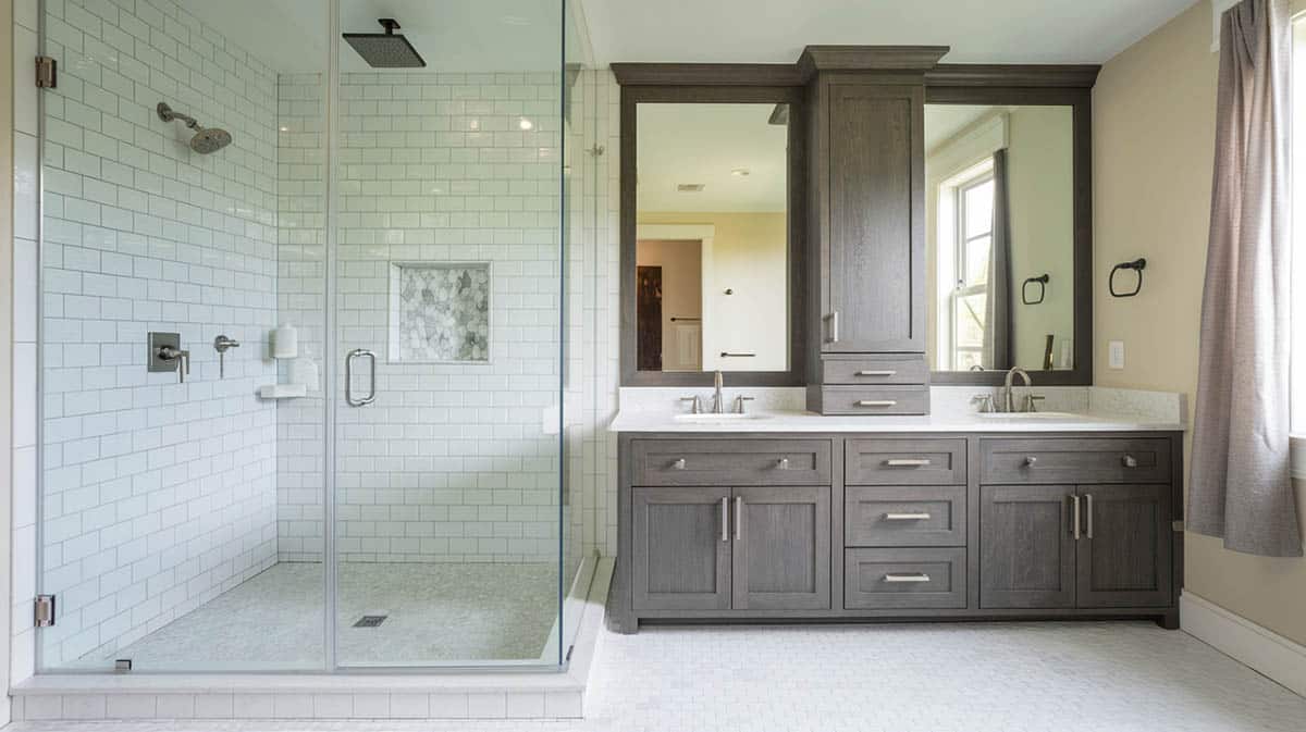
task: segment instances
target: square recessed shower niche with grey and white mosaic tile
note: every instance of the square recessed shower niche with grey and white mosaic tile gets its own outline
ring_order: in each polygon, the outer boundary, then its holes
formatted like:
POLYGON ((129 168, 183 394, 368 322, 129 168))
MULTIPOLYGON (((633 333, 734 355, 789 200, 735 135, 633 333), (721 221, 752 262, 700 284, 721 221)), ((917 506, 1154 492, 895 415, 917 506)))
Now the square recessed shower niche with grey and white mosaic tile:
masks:
POLYGON ((490 262, 390 262, 392 361, 490 360, 490 262))

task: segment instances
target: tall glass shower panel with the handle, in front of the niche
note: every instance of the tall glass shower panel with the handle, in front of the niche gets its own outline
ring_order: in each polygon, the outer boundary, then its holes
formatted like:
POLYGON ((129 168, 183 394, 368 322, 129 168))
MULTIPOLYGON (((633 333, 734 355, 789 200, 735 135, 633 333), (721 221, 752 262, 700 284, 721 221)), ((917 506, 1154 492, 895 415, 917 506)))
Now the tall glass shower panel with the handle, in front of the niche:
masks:
POLYGON ((387 10, 336 42, 337 664, 558 664, 563 5, 387 10))

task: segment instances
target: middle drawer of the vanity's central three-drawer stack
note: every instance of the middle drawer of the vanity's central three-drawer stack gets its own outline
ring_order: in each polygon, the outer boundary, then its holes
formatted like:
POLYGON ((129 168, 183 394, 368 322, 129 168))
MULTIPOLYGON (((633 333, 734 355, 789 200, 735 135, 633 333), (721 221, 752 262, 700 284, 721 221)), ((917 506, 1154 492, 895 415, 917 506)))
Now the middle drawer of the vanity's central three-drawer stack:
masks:
POLYGON ((849 547, 965 547, 965 485, 866 487, 844 493, 849 547))

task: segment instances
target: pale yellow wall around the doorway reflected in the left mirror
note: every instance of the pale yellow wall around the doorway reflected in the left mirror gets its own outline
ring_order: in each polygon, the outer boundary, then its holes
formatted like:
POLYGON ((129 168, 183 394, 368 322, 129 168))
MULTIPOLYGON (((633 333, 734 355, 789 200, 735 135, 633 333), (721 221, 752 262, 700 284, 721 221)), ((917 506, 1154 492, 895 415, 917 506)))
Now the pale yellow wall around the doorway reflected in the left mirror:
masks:
POLYGON ((640 211, 641 224, 710 224, 703 264, 703 368, 785 371, 789 364, 789 235, 785 213, 640 211), (733 295, 726 295, 726 290, 733 295), (721 352, 755 358, 721 360, 721 352))

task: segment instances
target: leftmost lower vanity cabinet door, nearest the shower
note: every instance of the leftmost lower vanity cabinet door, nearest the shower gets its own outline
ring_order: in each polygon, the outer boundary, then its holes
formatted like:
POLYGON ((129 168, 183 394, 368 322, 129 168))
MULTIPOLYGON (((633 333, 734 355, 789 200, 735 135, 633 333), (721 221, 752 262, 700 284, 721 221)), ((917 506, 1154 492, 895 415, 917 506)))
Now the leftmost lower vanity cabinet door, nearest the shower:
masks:
POLYGON ((730 607, 730 489, 631 491, 635 609, 730 607))

